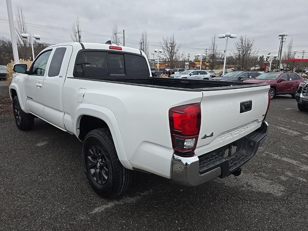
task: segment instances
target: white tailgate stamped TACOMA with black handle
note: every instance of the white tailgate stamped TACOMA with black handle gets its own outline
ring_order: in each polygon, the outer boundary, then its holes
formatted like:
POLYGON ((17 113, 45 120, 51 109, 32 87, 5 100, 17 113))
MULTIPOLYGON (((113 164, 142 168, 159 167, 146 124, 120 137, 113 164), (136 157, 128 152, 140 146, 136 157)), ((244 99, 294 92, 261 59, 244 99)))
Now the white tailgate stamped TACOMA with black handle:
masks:
POLYGON ((261 126, 270 86, 202 91, 201 128, 195 154, 201 156, 261 126), (251 103, 251 110, 250 109, 251 103))

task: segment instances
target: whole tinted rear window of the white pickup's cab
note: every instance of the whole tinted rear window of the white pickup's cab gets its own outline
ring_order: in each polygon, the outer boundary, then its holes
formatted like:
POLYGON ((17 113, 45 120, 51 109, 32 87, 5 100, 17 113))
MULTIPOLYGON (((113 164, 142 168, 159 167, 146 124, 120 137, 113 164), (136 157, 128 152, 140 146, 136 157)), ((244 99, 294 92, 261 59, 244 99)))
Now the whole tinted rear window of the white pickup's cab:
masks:
POLYGON ((79 53, 75 76, 150 76, 143 56, 105 51, 79 53))

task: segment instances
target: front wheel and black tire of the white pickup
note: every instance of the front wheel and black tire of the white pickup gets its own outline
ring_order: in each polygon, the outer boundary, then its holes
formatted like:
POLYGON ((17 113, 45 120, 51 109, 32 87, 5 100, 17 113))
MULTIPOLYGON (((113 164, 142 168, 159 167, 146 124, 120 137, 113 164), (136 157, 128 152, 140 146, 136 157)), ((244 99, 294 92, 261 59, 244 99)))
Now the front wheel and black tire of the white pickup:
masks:
POLYGON ((33 128, 34 115, 22 111, 17 95, 13 99, 13 114, 19 130, 26 131, 33 128))

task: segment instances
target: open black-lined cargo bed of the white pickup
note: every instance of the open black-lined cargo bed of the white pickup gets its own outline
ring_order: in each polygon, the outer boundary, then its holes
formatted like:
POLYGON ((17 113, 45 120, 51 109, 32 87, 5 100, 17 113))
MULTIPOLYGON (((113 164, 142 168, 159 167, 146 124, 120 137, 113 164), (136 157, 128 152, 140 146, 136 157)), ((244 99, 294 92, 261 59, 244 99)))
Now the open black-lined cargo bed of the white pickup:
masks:
MULTIPOLYGON (((79 79, 78 77, 74 77, 79 79)), ((205 79, 174 79, 174 78, 160 78, 160 77, 83 77, 80 79, 88 79, 102 82, 115 82, 130 85, 144 85, 144 87, 167 88, 173 90, 184 91, 215 91, 238 89, 246 87, 261 86, 259 83, 244 83, 244 82, 230 82, 230 81, 214 81, 205 79), (188 90, 189 89, 189 90, 188 90)), ((264 84, 262 84, 264 85, 264 84)))

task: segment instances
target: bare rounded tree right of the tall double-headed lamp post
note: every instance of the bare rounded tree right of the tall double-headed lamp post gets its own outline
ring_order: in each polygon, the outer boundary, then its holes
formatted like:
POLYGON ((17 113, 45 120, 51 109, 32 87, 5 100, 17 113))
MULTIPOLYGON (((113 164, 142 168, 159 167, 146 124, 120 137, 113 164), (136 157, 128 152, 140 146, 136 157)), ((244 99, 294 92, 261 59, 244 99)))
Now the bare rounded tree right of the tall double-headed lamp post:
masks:
POLYGON ((254 40, 249 39, 241 35, 239 39, 234 43, 235 49, 232 51, 235 58, 238 59, 238 63, 242 69, 250 68, 253 60, 253 56, 257 54, 257 50, 254 47, 254 40))

